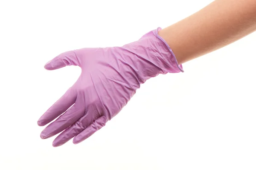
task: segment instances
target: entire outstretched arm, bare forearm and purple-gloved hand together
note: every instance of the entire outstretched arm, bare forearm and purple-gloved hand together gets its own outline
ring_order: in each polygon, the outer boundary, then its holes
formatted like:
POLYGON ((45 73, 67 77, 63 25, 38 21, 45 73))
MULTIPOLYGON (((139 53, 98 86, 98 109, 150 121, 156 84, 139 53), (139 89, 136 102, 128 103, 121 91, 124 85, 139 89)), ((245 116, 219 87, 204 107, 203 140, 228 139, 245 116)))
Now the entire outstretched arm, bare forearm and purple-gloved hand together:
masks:
POLYGON ((256 2, 233 1, 216 0, 190 17, 122 47, 81 48, 47 62, 47 70, 77 65, 81 75, 38 120, 39 126, 51 122, 41 138, 60 133, 54 147, 72 138, 74 144, 84 141, 116 116, 147 79, 183 71, 179 64, 253 32, 256 2))

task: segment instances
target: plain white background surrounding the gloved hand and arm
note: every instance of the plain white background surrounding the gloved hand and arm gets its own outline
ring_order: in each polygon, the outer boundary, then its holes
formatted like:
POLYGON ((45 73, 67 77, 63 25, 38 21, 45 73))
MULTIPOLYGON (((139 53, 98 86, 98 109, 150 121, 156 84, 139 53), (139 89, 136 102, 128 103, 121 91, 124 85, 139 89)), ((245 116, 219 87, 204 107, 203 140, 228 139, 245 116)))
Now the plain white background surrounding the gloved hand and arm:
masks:
POLYGON ((80 144, 40 138, 37 120, 80 74, 46 62, 135 41, 210 2, 1 0, 0 170, 255 170, 255 33, 149 79, 80 144))

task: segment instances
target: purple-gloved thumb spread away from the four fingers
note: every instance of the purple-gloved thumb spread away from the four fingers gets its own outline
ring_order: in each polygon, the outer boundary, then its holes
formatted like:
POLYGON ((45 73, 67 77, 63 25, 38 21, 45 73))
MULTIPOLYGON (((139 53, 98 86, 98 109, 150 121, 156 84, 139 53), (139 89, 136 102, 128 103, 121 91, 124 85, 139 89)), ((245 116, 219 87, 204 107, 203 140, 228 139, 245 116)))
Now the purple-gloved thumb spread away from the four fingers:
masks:
POLYGON ((55 70, 58 68, 65 67, 67 65, 78 65, 79 66, 79 60, 76 57, 75 51, 67 51, 67 52, 59 54, 57 57, 55 57, 51 61, 47 62, 44 65, 44 68, 47 70, 55 70))

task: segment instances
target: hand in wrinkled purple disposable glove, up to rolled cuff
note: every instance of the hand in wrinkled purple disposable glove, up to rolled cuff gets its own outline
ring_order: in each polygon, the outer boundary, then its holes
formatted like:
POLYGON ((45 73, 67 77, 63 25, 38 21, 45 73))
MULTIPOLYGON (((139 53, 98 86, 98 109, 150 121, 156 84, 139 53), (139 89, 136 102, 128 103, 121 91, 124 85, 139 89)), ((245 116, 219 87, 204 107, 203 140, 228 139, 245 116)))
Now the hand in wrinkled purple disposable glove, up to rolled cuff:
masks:
POLYGON ((147 79, 183 72, 171 48, 157 34, 160 29, 122 47, 82 48, 49 61, 47 70, 77 65, 81 75, 38 120, 38 125, 44 126, 59 116, 41 132, 41 138, 64 130, 52 145, 60 146, 73 137, 77 144, 116 116, 147 79))

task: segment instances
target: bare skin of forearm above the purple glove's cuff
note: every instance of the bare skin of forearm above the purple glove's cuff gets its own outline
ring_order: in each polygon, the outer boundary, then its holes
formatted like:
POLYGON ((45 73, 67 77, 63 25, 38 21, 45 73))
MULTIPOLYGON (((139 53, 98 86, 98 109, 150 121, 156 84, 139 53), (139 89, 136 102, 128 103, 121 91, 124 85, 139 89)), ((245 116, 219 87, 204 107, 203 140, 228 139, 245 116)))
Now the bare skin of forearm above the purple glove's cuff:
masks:
POLYGON ((256 0, 215 0, 159 31, 179 64, 222 48, 256 31, 256 0))

